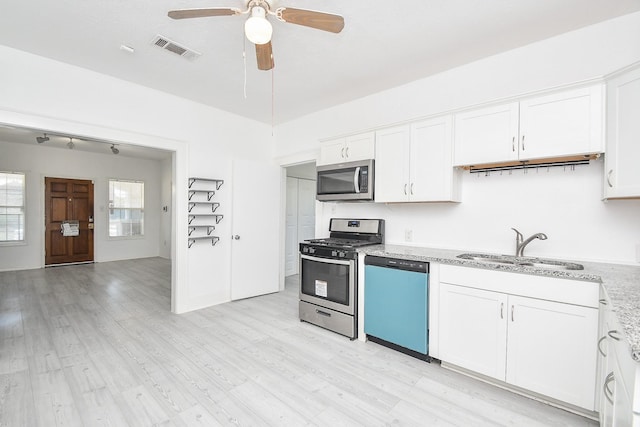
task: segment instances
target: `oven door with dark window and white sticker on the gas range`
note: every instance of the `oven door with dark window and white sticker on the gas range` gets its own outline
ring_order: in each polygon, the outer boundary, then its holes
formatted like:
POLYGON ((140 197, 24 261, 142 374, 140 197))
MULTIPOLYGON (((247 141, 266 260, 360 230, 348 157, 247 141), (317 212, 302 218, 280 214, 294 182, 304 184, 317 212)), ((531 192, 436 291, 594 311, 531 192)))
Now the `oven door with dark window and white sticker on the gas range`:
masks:
POLYGON ((301 292, 349 305, 349 265, 302 259, 301 292))

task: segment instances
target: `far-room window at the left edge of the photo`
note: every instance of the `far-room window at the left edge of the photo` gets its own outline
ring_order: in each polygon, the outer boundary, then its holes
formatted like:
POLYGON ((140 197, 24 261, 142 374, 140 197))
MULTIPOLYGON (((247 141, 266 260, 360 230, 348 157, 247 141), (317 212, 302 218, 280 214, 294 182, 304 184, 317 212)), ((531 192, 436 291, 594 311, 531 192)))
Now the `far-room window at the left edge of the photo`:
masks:
POLYGON ((0 172, 0 242, 24 241, 24 174, 0 172))

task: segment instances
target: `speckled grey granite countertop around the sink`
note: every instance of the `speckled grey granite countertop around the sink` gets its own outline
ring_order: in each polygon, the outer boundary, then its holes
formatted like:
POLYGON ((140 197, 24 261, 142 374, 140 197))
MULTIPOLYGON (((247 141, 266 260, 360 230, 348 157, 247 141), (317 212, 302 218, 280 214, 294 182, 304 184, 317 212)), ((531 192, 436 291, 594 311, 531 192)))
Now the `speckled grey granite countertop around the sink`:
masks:
POLYGON ((640 266, 573 261, 582 264, 584 270, 553 270, 461 259, 457 256, 464 251, 450 249, 375 245, 358 251, 367 255, 602 283, 629 343, 631 357, 640 363, 640 266))

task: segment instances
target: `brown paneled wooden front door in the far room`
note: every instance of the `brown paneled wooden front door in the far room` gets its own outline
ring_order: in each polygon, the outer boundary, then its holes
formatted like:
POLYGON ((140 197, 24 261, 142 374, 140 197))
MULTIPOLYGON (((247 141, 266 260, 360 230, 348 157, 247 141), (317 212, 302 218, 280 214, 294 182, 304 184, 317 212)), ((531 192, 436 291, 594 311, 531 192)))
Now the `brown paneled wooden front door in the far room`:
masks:
POLYGON ((93 182, 45 178, 45 265, 93 261, 93 182), (65 236, 64 221, 78 221, 65 236))

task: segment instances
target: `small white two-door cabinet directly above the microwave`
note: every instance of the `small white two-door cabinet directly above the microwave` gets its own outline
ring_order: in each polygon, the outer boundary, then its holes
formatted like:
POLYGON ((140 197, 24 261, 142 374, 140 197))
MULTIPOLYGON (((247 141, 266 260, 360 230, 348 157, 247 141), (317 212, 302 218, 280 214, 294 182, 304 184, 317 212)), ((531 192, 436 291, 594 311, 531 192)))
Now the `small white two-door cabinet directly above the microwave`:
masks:
POLYGON ((375 157, 375 132, 337 138, 320 144, 320 165, 356 162, 375 157))

